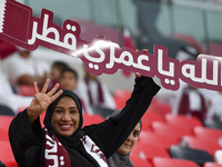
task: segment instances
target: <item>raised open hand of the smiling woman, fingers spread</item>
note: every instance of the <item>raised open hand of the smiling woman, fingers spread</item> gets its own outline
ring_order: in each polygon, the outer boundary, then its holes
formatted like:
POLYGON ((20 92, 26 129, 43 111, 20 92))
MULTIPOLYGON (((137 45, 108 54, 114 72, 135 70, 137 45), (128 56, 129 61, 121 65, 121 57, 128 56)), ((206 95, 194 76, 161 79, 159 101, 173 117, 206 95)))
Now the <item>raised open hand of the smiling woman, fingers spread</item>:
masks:
POLYGON ((57 84, 49 92, 47 92, 49 81, 50 79, 46 80, 41 92, 39 92, 37 82, 34 81, 33 84, 34 97, 27 109, 30 122, 33 122, 38 116, 40 116, 48 108, 48 106, 62 94, 62 90, 54 94, 59 88, 59 84, 57 84))

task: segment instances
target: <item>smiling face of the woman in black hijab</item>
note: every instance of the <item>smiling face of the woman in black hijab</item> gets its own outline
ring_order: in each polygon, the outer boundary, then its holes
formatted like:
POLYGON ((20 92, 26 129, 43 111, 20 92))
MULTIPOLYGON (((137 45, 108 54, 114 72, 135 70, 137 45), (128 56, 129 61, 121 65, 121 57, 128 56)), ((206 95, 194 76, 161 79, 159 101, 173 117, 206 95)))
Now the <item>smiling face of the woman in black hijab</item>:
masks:
POLYGON ((63 97, 57 104, 51 119, 52 128, 61 136, 71 136, 80 122, 80 114, 71 97, 63 97))

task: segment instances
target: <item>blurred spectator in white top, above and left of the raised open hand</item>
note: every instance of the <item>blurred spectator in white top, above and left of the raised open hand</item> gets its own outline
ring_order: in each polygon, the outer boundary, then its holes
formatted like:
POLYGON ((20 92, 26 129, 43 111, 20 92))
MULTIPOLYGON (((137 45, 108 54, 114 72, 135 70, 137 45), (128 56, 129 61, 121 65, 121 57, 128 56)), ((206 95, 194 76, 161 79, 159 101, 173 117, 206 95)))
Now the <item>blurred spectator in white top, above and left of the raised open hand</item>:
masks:
POLYGON ((50 66, 43 60, 31 57, 31 52, 23 48, 19 48, 19 51, 6 58, 3 63, 16 92, 19 92, 19 86, 33 85, 33 81, 42 87, 49 77, 50 66))

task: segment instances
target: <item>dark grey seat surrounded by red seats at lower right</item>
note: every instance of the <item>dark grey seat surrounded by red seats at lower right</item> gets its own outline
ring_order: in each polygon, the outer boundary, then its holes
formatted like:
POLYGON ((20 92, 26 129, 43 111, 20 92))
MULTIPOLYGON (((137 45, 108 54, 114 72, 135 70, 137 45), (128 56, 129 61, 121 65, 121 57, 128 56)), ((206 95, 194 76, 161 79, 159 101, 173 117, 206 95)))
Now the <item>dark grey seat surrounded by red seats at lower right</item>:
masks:
POLYGON ((191 160, 200 166, 203 166, 206 161, 214 161, 209 153, 190 147, 174 145, 170 147, 169 153, 172 158, 191 160))

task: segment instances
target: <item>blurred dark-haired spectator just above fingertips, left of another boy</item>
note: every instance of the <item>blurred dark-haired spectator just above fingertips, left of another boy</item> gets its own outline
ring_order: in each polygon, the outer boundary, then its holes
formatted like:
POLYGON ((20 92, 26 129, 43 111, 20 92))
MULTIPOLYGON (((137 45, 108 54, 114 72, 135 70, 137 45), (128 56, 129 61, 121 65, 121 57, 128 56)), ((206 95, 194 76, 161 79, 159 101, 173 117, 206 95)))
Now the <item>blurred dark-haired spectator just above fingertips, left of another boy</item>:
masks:
POLYGON ((56 86, 56 84, 60 81, 62 70, 64 70, 65 68, 69 68, 69 66, 63 61, 54 61, 52 63, 48 90, 51 90, 56 86))

